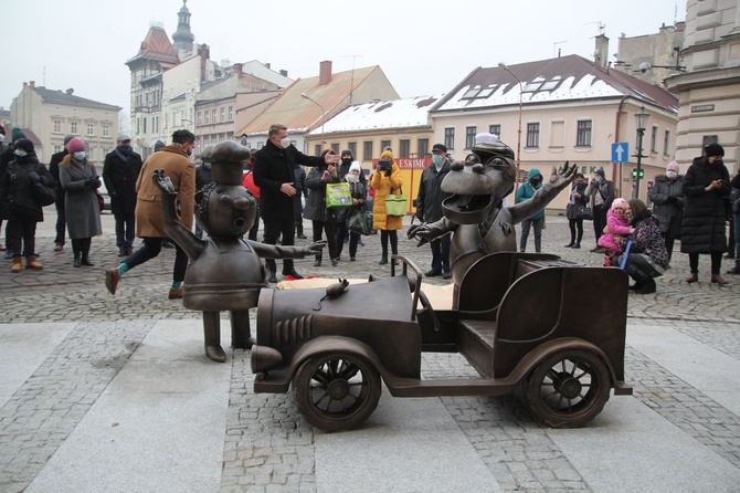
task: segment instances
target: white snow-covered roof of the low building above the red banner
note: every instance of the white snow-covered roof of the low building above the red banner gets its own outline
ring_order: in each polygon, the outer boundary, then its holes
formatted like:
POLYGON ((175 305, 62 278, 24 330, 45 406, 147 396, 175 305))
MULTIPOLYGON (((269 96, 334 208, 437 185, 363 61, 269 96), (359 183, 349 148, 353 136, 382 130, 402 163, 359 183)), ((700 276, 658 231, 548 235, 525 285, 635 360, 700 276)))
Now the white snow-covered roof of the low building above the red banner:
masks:
POLYGON ((373 101, 349 106, 334 118, 327 120, 324 128, 316 128, 309 135, 335 132, 353 132, 379 128, 408 128, 427 126, 429 111, 444 94, 436 96, 416 96, 403 99, 373 101))

